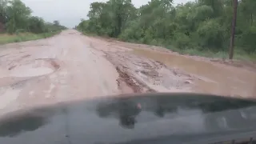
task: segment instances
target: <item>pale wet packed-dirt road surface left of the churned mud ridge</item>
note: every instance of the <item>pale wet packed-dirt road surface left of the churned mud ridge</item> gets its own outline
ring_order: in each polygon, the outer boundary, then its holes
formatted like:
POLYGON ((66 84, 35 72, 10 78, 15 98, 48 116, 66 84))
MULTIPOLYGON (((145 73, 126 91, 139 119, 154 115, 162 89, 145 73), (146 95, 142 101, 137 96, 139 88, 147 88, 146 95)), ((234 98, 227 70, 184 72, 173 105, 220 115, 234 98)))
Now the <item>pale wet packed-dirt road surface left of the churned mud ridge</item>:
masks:
POLYGON ((119 94, 118 72, 75 30, 1 51, 0 109, 119 94))

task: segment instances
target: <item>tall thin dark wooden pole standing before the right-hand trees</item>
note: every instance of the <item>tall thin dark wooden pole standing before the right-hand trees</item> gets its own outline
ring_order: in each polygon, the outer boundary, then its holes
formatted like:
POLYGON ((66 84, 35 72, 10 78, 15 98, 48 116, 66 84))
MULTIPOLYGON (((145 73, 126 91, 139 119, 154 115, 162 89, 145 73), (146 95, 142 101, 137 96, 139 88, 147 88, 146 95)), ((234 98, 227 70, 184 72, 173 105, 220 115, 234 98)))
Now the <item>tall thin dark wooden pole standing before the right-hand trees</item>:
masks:
POLYGON ((231 38, 230 38, 230 54, 229 54, 230 59, 233 59, 233 55, 234 55, 234 34, 235 34, 235 26, 237 22, 238 0, 234 0, 233 5, 234 5, 234 11, 233 11, 233 20, 232 20, 231 38))

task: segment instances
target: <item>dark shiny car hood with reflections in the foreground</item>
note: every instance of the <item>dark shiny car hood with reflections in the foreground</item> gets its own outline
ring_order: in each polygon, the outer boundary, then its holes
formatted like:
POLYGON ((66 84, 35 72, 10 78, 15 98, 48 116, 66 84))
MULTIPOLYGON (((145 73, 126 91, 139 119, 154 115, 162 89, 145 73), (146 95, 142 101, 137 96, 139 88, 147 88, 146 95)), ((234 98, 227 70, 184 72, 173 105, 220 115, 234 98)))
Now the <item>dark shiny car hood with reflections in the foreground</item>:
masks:
POLYGON ((19 110, 0 143, 210 143, 256 135, 256 102, 204 94, 142 94, 19 110), (224 139, 223 139, 224 138, 224 139), (200 141, 200 142, 199 142, 200 141))

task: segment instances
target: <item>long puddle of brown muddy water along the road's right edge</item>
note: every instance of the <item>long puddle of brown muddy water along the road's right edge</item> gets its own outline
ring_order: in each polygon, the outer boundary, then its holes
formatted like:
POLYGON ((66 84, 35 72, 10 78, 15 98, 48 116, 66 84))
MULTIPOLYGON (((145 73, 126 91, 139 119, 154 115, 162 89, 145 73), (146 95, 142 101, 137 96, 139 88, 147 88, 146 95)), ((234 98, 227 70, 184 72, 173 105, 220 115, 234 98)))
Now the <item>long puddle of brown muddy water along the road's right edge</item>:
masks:
POLYGON ((253 71, 156 50, 134 49, 133 53, 194 75, 193 92, 256 98, 256 73, 253 71))

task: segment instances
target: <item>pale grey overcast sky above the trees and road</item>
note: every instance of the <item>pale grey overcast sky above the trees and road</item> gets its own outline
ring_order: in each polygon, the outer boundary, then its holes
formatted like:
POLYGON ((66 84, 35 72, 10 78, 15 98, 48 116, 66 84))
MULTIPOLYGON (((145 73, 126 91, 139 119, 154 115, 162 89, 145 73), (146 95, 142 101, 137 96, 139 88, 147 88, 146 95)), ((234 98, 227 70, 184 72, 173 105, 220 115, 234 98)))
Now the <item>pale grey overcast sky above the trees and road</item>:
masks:
MULTIPOLYGON (((62 25, 74 27, 81 18, 87 18, 91 2, 106 2, 107 0, 22 0, 33 10, 33 15, 44 18, 47 22, 58 20, 62 25)), ((132 0, 139 7, 150 0, 132 0)), ((189 2, 190 0, 174 0, 174 3, 189 2)))

